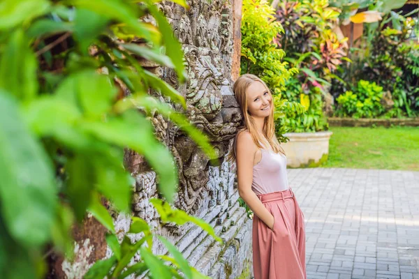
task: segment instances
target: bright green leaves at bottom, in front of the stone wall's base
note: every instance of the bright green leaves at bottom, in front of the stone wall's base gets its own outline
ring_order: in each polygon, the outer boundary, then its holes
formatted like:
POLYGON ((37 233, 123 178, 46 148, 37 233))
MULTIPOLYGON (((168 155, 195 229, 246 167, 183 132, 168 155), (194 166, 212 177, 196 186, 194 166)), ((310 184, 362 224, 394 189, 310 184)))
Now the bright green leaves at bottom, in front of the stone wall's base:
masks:
MULTIPOLYGON (((183 225, 185 220, 196 222, 198 218, 189 216, 184 211, 179 209, 172 209, 171 206, 166 202, 162 202, 160 199, 154 199, 154 206, 156 206, 162 220, 165 222, 168 220, 167 216, 170 216, 170 221, 177 224, 183 225)), ((126 278, 128 276, 141 276, 146 274, 149 278, 207 278, 206 276, 200 275, 196 269, 189 266, 189 263, 183 257, 182 253, 173 246, 170 241, 157 236, 157 239, 163 243, 168 249, 168 252, 172 255, 154 255, 152 252, 152 245, 154 242, 151 228, 145 220, 133 217, 129 234, 141 234, 142 237, 132 242, 128 236, 124 236, 122 241, 117 239, 115 234, 108 234, 106 241, 108 246, 112 250, 112 256, 108 259, 103 259, 96 262, 89 271, 85 278, 88 279, 101 279, 104 277, 108 278, 126 278), (128 266, 131 259, 140 252, 141 261, 128 266), (184 274, 184 277, 180 276, 180 272, 184 274)), ((198 220, 198 222, 201 222, 198 220)), ((212 227, 207 226, 205 230, 215 236, 212 227)), ((217 237, 217 236, 215 236, 217 237)))

